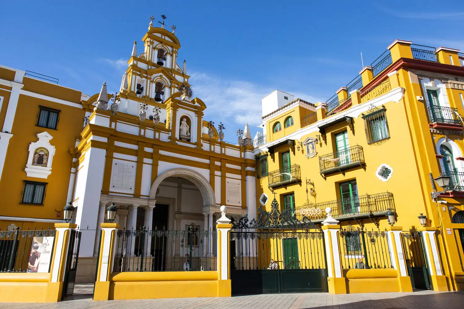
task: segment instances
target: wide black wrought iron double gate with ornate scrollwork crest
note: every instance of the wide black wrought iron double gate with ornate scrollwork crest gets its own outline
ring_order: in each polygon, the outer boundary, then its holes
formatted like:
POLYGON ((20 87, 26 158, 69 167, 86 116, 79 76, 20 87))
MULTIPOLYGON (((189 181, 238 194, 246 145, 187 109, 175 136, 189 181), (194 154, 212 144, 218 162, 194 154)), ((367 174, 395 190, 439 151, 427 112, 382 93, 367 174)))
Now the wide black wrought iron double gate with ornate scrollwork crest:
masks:
POLYGON ((327 292, 323 233, 291 209, 258 208, 257 220, 240 218, 230 234, 232 294, 327 292))

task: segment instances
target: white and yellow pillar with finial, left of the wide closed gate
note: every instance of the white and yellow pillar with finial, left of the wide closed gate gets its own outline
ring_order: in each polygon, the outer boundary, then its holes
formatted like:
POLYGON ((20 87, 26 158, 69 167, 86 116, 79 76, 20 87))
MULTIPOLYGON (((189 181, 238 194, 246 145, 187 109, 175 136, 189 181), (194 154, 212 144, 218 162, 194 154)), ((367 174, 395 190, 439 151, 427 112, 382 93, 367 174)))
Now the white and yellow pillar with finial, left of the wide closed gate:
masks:
POLYGON ((216 221, 218 230, 218 297, 232 295, 230 276, 230 231, 232 224, 226 217, 226 206, 221 206, 222 216, 216 221))

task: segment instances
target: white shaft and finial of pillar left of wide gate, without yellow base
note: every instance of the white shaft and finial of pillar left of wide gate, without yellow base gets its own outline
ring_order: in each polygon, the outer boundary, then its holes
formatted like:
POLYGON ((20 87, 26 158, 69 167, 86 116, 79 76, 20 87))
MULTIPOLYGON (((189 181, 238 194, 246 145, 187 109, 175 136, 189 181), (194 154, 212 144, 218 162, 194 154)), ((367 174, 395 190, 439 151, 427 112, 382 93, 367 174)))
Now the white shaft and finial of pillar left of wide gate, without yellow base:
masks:
POLYGON ((228 233, 231 230, 231 221, 226 217, 226 206, 221 206, 222 216, 216 221, 218 229, 218 272, 219 280, 229 279, 229 237, 228 233))

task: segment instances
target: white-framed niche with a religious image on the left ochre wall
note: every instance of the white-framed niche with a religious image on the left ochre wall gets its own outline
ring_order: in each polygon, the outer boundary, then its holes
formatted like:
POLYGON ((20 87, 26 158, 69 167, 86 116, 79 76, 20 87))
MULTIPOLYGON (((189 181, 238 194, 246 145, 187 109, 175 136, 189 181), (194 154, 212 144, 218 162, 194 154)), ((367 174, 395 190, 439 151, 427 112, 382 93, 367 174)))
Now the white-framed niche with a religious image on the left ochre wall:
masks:
POLYGON ((27 158, 26 172, 27 177, 47 179, 52 173, 52 161, 55 154, 55 146, 50 144, 53 138, 48 132, 37 134, 39 139, 29 145, 29 157, 27 158))

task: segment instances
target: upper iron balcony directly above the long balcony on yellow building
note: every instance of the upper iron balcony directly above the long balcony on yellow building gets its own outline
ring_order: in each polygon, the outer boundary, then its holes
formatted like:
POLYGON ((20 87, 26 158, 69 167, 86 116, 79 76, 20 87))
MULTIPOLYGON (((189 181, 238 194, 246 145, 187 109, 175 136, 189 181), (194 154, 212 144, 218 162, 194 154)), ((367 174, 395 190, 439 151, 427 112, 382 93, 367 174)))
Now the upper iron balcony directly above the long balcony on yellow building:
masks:
POLYGON ((326 175, 336 172, 341 172, 345 175, 344 170, 349 170, 356 166, 364 166, 364 152, 360 145, 319 157, 319 169, 324 178, 326 175))

